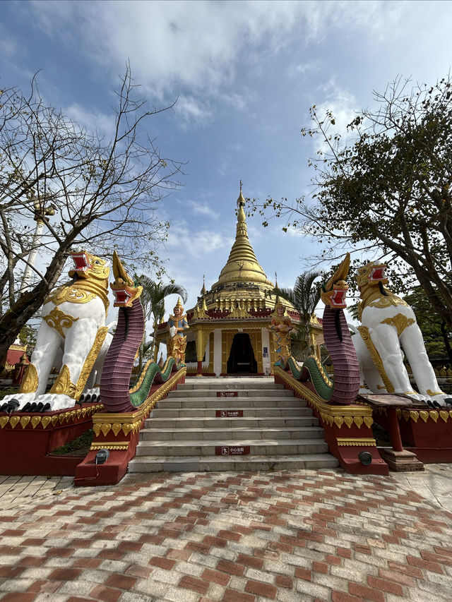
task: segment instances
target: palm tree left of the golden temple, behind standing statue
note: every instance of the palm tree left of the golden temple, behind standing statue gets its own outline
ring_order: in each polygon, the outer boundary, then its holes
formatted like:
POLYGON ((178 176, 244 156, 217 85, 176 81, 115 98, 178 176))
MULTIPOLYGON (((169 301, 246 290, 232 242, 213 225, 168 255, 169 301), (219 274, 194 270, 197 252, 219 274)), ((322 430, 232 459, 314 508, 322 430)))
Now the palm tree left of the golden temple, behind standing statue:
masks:
MULTIPOLYGON (((139 284, 143 287, 143 292, 141 294, 141 303, 143 304, 143 311, 146 320, 150 320, 153 318, 154 325, 160 323, 163 316, 165 315, 165 297, 168 295, 179 295, 182 297, 182 301, 186 303, 188 298, 188 294, 184 287, 179 284, 174 284, 174 282, 170 282, 169 284, 162 284, 162 282, 155 282, 152 278, 141 275, 136 276, 139 284)), ((148 350, 150 349, 151 353, 155 353, 155 328, 153 334, 153 342, 150 345, 147 345, 148 350)), ((143 365, 143 344, 140 347, 140 371, 143 365)))

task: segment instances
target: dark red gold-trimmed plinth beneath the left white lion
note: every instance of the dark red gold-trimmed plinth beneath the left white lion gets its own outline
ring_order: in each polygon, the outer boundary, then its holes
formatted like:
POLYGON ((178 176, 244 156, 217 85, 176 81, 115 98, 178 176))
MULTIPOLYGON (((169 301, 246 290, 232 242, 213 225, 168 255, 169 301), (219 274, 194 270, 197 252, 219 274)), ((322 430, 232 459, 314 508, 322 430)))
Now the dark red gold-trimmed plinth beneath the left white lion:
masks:
MULTIPOLYGON (((99 404, 83 406, 82 411, 85 416, 77 416, 77 409, 74 408, 45 414, 15 412, 0 431, 0 474, 47 476, 76 474, 80 456, 56 456, 51 455, 50 452, 92 428, 91 414, 97 407, 99 404), (41 421, 33 428, 31 419, 24 427, 19 420, 12 428, 11 418, 15 416, 23 419, 24 424, 26 418, 30 416, 32 419, 39 417, 41 421), (42 419, 45 419, 44 423, 50 419, 45 424, 45 428, 42 419)), ((78 411, 81 414, 80 409, 78 411)), ((8 415, 2 413, 1 416, 8 415)))

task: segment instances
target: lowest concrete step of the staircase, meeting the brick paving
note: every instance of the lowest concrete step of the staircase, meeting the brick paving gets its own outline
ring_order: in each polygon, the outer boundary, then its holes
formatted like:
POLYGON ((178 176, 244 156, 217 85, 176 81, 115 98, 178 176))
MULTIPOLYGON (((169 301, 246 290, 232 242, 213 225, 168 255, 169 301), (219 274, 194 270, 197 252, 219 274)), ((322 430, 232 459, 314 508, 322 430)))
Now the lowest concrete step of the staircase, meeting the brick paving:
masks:
MULTIPOLYGON (((339 462, 331 454, 245 455, 245 456, 148 456, 135 457, 129 472, 210 472, 272 471, 335 468, 339 462)), ((225 492, 226 495, 226 492, 225 492)))

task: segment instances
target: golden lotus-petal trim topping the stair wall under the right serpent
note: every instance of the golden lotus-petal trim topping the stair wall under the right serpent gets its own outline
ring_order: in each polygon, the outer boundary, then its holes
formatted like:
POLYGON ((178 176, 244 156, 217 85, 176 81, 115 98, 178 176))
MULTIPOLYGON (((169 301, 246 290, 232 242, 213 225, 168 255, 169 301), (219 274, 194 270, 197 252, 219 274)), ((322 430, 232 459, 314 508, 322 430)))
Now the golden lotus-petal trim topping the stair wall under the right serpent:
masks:
POLYGON ((372 409, 365 405, 352 406, 331 406, 321 399, 316 393, 305 387, 298 380, 295 380, 292 375, 285 372, 280 366, 273 368, 275 376, 278 375, 292 391, 297 392, 303 399, 306 399, 308 404, 313 407, 318 413, 321 422, 328 426, 337 426, 341 428, 344 424, 347 428, 352 428, 355 424, 357 428, 361 428, 363 423, 367 428, 371 428, 374 419, 372 418, 372 409))

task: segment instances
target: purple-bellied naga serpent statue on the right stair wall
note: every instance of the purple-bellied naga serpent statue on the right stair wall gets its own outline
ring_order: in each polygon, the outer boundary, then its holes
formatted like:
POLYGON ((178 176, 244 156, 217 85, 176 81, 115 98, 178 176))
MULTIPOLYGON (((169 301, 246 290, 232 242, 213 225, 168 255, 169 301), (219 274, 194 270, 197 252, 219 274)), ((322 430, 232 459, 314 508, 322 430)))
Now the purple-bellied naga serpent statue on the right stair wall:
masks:
POLYGON ((336 405, 352 404, 359 392, 359 362, 343 312, 348 290, 345 278, 349 269, 350 253, 347 253, 321 291, 321 299, 325 303, 323 338, 333 361, 333 379, 328 378, 314 357, 307 358, 302 366, 292 356, 287 361, 297 380, 312 388, 323 401, 336 405))

